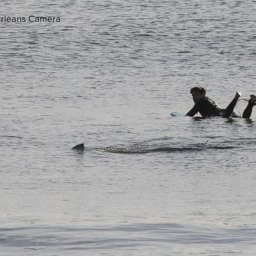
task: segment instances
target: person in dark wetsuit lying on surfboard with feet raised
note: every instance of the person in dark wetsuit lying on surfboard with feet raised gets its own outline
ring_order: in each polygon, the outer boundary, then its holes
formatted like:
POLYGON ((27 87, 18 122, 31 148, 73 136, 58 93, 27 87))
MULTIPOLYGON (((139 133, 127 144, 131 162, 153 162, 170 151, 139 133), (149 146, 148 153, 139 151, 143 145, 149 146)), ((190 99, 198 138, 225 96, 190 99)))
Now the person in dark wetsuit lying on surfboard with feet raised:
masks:
MULTIPOLYGON (((193 101, 195 102, 194 107, 186 114, 189 115, 189 117, 193 117, 197 112, 201 114, 202 117, 239 117, 235 112, 233 112, 235 105, 237 104, 237 101, 239 97, 241 97, 241 93, 237 92, 235 93, 235 97, 229 103, 226 109, 221 109, 215 101, 209 99, 209 97, 206 97, 206 91, 203 87, 193 87, 190 90, 190 93, 192 94, 193 101)), ((248 101, 248 105, 245 108, 245 111, 243 111, 243 118, 249 118, 251 116, 251 112, 253 111, 253 106, 256 105, 256 96, 251 95, 250 99, 248 101)))

